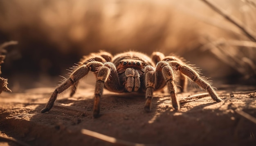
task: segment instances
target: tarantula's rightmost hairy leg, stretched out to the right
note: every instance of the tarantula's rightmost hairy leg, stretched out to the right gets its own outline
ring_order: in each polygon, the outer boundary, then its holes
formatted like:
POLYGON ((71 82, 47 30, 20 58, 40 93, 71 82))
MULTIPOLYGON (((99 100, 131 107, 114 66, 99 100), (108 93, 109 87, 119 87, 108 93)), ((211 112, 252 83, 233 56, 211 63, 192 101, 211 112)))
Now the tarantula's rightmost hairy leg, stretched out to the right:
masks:
POLYGON ((175 67, 176 69, 180 70, 180 72, 196 84, 200 86, 200 88, 207 90, 210 94, 211 98, 216 102, 221 102, 222 99, 218 97, 217 93, 215 92, 214 88, 209 84, 203 77, 200 77, 197 71, 192 69, 190 66, 182 64, 178 61, 170 61, 168 62, 171 66, 175 67))

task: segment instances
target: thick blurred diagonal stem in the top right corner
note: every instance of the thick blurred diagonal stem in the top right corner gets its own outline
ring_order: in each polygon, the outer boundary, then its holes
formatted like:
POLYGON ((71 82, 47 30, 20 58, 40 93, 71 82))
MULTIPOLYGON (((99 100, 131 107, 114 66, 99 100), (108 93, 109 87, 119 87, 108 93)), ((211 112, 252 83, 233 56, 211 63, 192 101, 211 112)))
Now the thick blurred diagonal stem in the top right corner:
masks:
POLYGON ((254 32, 251 29, 245 27, 242 22, 240 22, 239 20, 234 18, 232 15, 228 15, 222 9, 220 9, 215 4, 209 2, 208 0, 202 0, 202 2, 206 3, 209 7, 211 7, 211 9, 213 9, 214 11, 216 11, 217 13, 222 15, 229 22, 236 25, 239 29, 241 29, 245 33, 245 35, 247 35, 248 38, 250 38, 252 41, 256 42, 256 38, 254 37, 255 36, 254 32))

